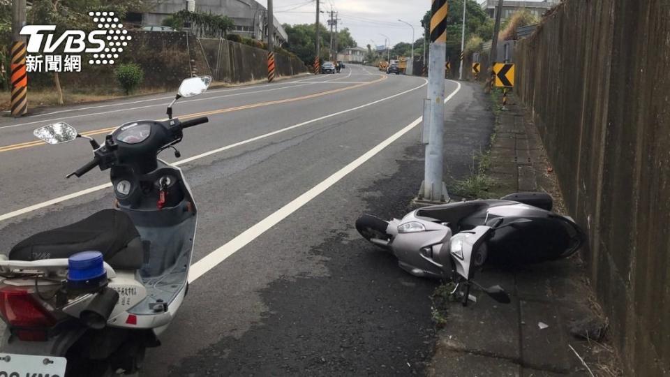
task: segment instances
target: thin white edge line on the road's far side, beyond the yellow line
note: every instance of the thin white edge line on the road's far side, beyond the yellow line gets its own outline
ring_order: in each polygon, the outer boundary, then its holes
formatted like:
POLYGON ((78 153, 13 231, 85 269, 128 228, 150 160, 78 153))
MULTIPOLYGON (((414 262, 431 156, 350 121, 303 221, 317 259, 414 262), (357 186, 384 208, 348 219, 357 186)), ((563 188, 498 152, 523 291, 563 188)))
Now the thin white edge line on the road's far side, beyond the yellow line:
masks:
MULTIPOLYGON (((342 78, 345 78, 345 77, 342 77, 342 78)), ((327 81, 322 81, 322 82, 329 82, 329 81, 332 81, 332 80, 327 80, 327 81)), ((297 82, 297 81, 295 81, 295 82, 297 82)), ((289 85, 289 86, 286 86, 286 87, 274 87, 274 88, 271 88, 271 89, 262 89, 262 90, 255 90, 255 91, 245 91, 244 93, 223 94, 222 96, 210 96, 210 97, 204 97, 204 98, 195 98, 195 99, 192 99, 192 100, 179 101, 178 103, 181 104, 181 103, 191 103, 191 102, 209 101, 209 100, 212 100, 212 99, 218 99, 218 98, 226 98, 226 97, 234 97, 234 96, 244 96, 244 95, 246 95, 246 94, 265 93, 265 92, 267 92, 267 91, 277 91, 277 90, 282 90, 282 89, 293 89, 293 88, 299 88, 299 87, 306 87, 306 86, 309 85, 309 84, 320 84, 320 83, 322 83, 322 82, 303 82, 303 83, 301 83, 301 84, 297 84, 297 85, 289 85)), ((287 82, 286 84, 289 84, 289 83, 287 82)), ((337 84, 337 82, 333 82, 333 84, 337 84)), ((263 86, 264 86, 264 87, 267 87, 268 85, 263 85, 263 86)), ((249 88, 245 88, 245 89, 249 89, 249 88)), ((231 91, 232 91, 232 90, 231 90, 231 91)), ((210 93, 212 93, 212 92, 210 92, 210 93)), ((101 106, 93 106, 93 107, 90 107, 90 108, 82 108, 82 109, 61 110, 61 111, 58 111, 58 112, 49 112, 49 113, 46 113, 46 114, 36 114, 36 115, 33 115, 32 117, 41 117, 41 116, 43 116, 43 115, 57 114, 57 113, 59 113, 59 112, 69 112, 69 111, 79 111, 79 110, 90 110, 90 109, 95 109, 95 108, 103 108, 103 107, 106 107, 106 106, 128 105, 128 104, 132 104, 132 103, 142 103, 142 102, 158 101, 158 100, 165 100, 165 99, 169 99, 170 101, 172 101, 173 98, 174 98, 174 96, 171 96, 171 97, 161 97, 161 98, 155 98, 155 99, 149 99, 149 100, 133 101, 133 102, 130 102, 130 103, 121 103, 121 104, 114 104, 114 105, 101 105, 101 106)), ((154 104, 154 105, 137 106, 137 107, 135 107, 135 108, 122 108, 122 109, 108 110, 108 111, 103 111, 103 112, 91 112, 91 113, 89 113, 89 114, 77 114, 77 115, 71 115, 71 116, 69 116, 69 117, 57 117, 57 118, 52 118, 52 119, 43 119, 43 120, 39 120, 39 121, 29 121, 29 122, 26 122, 26 123, 20 123, 20 124, 8 124, 8 125, 6 125, 6 126, 0 126, 0 130, 3 129, 3 128, 15 128, 15 127, 28 126, 28 125, 30 125, 30 124, 38 124, 38 123, 40 123, 40 124, 48 124, 48 123, 53 122, 53 121, 61 121, 61 120, 64 120, 64 119, 75 119, 75 118, 82 118, 82 117, 91 117, 91 116, 94 116, 94 115, 112 114, 113 112, 126 112, 126 111, 130 111, 130 110, 140 110, 140 109, 146 109, 146 108, 155 108, 155 107, 158 107, 158 106, 167 106, 167 105, 168 105, 168 103, 156 103, 156 104, 154 104)))

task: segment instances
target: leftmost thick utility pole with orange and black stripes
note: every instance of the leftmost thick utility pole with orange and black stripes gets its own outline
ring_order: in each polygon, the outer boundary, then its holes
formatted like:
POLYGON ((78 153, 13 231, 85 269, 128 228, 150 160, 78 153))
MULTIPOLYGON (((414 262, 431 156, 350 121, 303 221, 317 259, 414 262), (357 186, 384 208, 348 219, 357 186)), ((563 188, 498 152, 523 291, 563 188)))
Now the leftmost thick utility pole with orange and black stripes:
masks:
POLYGON ((11 110, 13 117, 28 112, 28 79, 26 72, 26 37, 20 34, 26 24, 26 0, 12 3, 12 40, 10 48, 11 110))

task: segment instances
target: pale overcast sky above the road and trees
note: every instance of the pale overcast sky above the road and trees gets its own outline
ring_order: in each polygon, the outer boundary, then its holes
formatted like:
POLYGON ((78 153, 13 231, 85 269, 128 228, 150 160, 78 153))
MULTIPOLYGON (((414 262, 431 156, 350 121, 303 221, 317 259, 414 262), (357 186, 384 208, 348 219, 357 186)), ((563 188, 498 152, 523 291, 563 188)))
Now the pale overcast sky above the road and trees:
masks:
MULTIPOLYGON (((267 0, 257 0, 267 6, 267 0)), ((542 0, 527 0, 542 1, 542 0)), ((481 3, 482 0, 477 0, 481 3)), ((338 28, 349 28, 359 46, 383 45, 385 34, 391 45, 412 41, 412 29, 398 20, 409 22, 415 28, 415 40, 421 38, 421 18, 431 7, 431 0, 321 0, 321 10, 331 7, 339 13, 338 28)), ((310 24, 315 22, 315 0, 274 0, 274 16, 282 24, 310 24)), ((326 26, 328 14, 321 14, 326 26)))

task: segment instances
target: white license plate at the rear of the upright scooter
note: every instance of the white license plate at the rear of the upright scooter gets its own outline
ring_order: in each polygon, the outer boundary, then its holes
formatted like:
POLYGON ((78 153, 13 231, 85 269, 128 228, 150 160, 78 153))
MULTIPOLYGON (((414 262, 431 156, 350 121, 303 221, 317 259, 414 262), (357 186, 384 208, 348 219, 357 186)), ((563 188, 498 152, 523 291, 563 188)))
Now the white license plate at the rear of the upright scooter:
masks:
POLYGON ((0 353, 0 376, 64 377, 66 364, 65 357, 0 353))

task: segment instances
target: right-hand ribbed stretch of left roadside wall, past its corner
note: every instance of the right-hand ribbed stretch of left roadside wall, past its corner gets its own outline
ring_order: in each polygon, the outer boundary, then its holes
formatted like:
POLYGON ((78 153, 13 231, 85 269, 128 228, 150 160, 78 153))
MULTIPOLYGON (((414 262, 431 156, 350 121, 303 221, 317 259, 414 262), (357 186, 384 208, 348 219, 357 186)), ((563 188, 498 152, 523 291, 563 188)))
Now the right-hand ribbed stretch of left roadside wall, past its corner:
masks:
MULTIPOLYGON (((224 39, 200 39, 214 80, 246 82, 267 78, 267 51, 224 39)), ((300 59, 274 54, 276 74, 292 76, 307 72, 300 59)))

